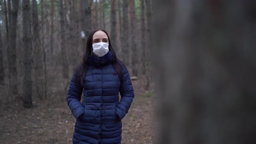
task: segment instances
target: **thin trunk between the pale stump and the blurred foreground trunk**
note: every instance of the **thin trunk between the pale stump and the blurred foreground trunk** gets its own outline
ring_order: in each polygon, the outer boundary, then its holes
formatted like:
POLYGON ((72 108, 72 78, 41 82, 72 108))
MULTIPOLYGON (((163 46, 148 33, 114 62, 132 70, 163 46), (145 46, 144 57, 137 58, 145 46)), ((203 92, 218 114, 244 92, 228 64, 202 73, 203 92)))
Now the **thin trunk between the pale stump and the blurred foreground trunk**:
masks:
POLYGON ((145 47, 145 15, 144 15, 144 0, 141 0, 141 49, 142 49, 142 74, 146 74, 146 55, 147 50, 145 47))

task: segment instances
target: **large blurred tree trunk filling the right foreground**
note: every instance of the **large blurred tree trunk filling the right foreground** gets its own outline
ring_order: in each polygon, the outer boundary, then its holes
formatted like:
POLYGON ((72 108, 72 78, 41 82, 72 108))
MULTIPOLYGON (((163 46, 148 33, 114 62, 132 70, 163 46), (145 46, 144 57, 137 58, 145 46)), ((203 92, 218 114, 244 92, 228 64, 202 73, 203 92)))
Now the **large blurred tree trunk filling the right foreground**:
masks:
POLYGON ((255 143, 256 3, 153 6, 159 144, 255 143))

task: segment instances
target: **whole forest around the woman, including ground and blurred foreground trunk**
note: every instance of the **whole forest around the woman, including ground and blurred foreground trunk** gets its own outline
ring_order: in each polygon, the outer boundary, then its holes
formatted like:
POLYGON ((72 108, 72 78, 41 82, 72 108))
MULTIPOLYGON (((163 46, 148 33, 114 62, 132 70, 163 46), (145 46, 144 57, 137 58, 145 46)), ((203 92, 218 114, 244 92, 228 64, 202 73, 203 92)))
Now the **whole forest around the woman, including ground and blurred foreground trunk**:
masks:
POLYGON ((134 87, 122 144, 255 143, 254 0, 0 0, 1 144, 72 144, 67 92, 95 28, 134 87))

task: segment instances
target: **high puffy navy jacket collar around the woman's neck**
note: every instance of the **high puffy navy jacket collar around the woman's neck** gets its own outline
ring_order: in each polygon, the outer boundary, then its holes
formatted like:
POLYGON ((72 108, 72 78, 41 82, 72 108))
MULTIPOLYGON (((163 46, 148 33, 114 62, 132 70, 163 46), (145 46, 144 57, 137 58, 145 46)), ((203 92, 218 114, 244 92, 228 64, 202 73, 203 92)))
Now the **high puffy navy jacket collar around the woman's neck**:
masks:
POLYGON ((113 53, 108 51, 107 54, 101 57, 95 56, 93 53, 88 57, 88 63, 94 65, 95 67, 102 67, 111 64, 113 61, 113 53))

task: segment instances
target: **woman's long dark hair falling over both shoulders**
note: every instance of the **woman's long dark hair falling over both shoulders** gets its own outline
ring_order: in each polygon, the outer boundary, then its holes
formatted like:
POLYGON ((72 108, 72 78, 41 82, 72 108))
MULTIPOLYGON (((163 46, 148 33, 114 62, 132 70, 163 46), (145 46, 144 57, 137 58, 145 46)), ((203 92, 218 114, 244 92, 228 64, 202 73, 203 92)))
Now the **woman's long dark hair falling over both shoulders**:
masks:
MULTIPOLYGON (((104 29, 94 29, 89 34, 87 38, 86 48, 83 54, 82 62, 80 62, 79 65, 77 65, 75 70, 75 74, 76 74, 75 82, 80 83, 81 85, 83 85, 83 78, 85 77, 85 74, 88 70, 88 57, 89 55, 92 54, 92 40, 93 40, 92 38, 94 33, 97 31, 102 31, 106 33, 106 35, 108 36, 108 33, 104 29)), ((118 77, 121 81, 122 80, 122 64, 121 64, 121 61, 115 55, 115 50, 111 46, 109 36, 108 36, 108 49, 113 53, 113 66, 115 69, 115 75, 118 74, 118 77)))

